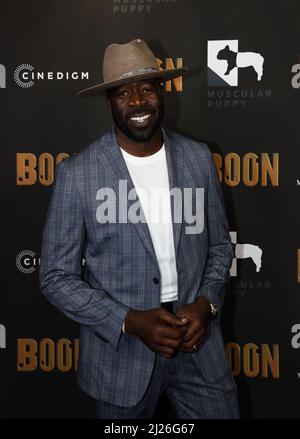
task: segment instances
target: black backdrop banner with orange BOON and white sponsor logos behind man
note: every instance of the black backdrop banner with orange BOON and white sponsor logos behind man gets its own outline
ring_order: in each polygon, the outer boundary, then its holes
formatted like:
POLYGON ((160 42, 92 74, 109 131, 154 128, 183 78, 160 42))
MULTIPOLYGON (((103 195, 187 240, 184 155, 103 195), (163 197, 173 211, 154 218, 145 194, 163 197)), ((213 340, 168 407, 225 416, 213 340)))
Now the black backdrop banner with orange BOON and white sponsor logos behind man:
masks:
POLYGON ((39 290, 42 230, 56 165, 111 126, 105 99, 77 91, 102 82, 107 45, 142 38, 162 69, 189 68, 165 84, 165 125, 209 145, 224 192, 241 415, 298 418, 299 2, 3 1, 0 33, 0 417, 94 417, 79 326, 39 290))

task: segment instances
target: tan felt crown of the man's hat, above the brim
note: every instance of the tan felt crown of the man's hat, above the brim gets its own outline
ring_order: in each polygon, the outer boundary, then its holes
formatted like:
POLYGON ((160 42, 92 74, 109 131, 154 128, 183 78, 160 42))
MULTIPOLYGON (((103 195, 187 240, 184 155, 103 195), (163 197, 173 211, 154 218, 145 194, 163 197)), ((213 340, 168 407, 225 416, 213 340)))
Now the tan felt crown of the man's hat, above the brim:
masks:
POLYGON ((103 60, 104 82, 159 71, 158 62, 145 41, 137 38, 126 44, 111 44, 103 60))

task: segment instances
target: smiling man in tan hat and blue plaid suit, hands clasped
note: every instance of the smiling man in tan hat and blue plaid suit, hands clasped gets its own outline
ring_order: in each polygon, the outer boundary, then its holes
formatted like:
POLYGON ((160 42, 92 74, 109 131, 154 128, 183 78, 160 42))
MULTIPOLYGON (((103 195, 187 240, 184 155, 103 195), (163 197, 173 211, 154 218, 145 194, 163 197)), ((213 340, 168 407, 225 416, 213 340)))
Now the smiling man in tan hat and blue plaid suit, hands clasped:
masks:
POLYGON ((78 383, 99 418, 151 418, 162 393, 177 418, 238 417, 220 185, 208 147, 161 126, 161 83, 184 70, 160 71, 140 39, 110 45, 104 82, 79 94, 105 91, 114 127, 57 168, 41 289, 81 324, 78 383))

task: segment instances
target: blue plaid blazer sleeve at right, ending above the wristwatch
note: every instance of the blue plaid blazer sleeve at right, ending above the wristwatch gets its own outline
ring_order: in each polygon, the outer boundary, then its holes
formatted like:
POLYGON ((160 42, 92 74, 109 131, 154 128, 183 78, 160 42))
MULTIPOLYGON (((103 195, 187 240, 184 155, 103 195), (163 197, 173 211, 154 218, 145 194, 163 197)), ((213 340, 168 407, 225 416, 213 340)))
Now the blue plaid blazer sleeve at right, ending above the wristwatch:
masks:
POLYGON ((217 170, 208 150, 209 182, 206 203, 206 224, 208 228, 208 256, 204 275, 196 299, 205 295, 221 310, 225 284, 230 277, 233 259, 233 244, 225 213, 223 193, 217 170))

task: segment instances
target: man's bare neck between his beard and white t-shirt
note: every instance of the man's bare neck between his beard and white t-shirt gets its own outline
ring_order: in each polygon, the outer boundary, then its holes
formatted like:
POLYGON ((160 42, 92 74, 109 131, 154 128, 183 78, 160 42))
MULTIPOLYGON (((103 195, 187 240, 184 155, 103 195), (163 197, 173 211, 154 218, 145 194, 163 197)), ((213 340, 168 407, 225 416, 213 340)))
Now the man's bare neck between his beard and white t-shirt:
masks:
POLYGON ((163 144, 163 135, 160 128, 147 142, 136 142, 130 139, 117 126, 115 126, 115 134, 121 148, 128 152, 128 154, 137 157, 146 157, 155 154, 160 150, 163 144))

